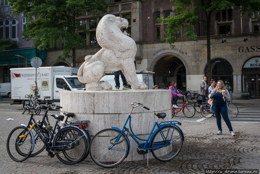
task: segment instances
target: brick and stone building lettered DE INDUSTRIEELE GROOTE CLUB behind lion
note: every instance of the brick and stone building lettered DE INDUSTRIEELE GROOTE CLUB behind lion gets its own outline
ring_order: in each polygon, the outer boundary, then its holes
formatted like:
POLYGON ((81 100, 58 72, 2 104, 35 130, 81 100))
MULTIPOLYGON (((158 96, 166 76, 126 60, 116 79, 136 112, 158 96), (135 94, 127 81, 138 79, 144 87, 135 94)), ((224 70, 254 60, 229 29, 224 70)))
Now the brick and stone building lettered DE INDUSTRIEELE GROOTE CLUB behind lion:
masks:
MULTIPOLYGON (((127 34, 137 45, 136 69, 153 71, 154 84, 170 86, 177 82, 180 89, 199 90, 200 81, 207 72, 207 40, 205 23, 194 26, 198 42, 183 38, 183 30, 172 48, 164 42, 167 23, 156 18, 174 16, 174 3, 169 0, 110 0, 109 14, 129 21, 127 34)), ((200 14, 205 18, 205 14, 200 14)), ((96 42, 95 30, 102 17, 93 18, 91 13, 79 18, 91 31, 83 36, 86 45, 76 49, 79 67, 86 55, 101 49, 96 42)), ((211 76, 223 80, 233 98, 260 99, 260 12, 241 17, 235 7, 222 10, 211 17, 211 76)), ((0 26, 1 27, 1 26, 0 26)), ((71 65, 72 61, 56 62, 62 44, 46 50, 44 66, 71 65)), ((210 79, 208 79, 210 80, 210 79)))

